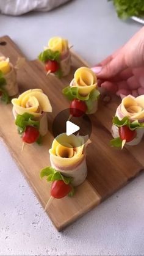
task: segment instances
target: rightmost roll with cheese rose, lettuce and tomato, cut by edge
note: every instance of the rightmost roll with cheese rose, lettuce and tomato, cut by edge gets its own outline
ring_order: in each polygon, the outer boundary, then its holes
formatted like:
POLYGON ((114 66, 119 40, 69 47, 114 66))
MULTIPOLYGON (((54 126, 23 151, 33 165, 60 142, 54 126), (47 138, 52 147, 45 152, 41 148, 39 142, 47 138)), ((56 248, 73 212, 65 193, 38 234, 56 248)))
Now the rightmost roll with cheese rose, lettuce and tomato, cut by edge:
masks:
POLYGON ((112 125, 112 145, 137 145, 144 133, 144 95, 137 98, 128 95, 118 106, 112 125))

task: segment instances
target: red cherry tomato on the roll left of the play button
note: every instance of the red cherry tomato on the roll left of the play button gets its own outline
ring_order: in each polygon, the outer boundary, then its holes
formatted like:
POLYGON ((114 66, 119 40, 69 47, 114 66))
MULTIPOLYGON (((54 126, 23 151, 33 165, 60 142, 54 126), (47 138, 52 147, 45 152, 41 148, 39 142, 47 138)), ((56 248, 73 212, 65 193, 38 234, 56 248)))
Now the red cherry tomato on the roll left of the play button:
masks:
POLYGON ((26 143, 34 143, 37 141, 38 137, 40 136, 39 131, 37 128, 33 126, 27 126, 26 131, 23 133, 23 141, 26 143))

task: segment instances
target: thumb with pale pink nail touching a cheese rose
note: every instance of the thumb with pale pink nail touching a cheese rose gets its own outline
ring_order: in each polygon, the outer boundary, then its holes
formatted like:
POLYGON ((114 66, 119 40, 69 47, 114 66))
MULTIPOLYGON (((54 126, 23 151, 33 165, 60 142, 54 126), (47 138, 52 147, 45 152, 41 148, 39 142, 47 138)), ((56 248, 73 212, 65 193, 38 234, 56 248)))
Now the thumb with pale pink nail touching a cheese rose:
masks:
POLYGON ((119 53, 112 60, 110 60, 106 65, 102 67, 93 67, 92 70, 98 78, 110 79, 116 76, 118 73, 127 68, 126 62, 124 60, 124 54, 119 53))

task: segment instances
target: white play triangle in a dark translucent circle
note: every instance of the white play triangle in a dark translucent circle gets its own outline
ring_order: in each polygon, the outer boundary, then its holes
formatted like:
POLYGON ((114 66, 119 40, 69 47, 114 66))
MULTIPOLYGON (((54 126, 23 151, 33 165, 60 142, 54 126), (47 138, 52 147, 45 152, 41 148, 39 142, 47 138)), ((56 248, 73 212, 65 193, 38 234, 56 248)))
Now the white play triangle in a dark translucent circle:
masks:
POLYGON ((52 122, 52 134, 60 144, 59 134, 61 133, 66 133, 67 136, 79 134, 79 136, 85 137, 85 142, 88 141, 92 133, 90 117, 87 114, 83 114, 81 117, 70 116, 70 109, 60 111, 52 122))

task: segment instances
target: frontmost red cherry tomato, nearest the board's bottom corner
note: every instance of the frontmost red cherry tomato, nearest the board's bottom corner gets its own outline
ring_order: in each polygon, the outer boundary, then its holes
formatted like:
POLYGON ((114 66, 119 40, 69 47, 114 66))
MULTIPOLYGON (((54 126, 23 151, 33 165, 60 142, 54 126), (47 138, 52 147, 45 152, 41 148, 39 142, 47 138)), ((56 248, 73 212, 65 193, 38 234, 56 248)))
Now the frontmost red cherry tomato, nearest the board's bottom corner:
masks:
POLYGON ((57 199, 67 196, 71 191, 71 185, 65 184, 63 180, 55 180, 51 185, 51 196, 57 199))

